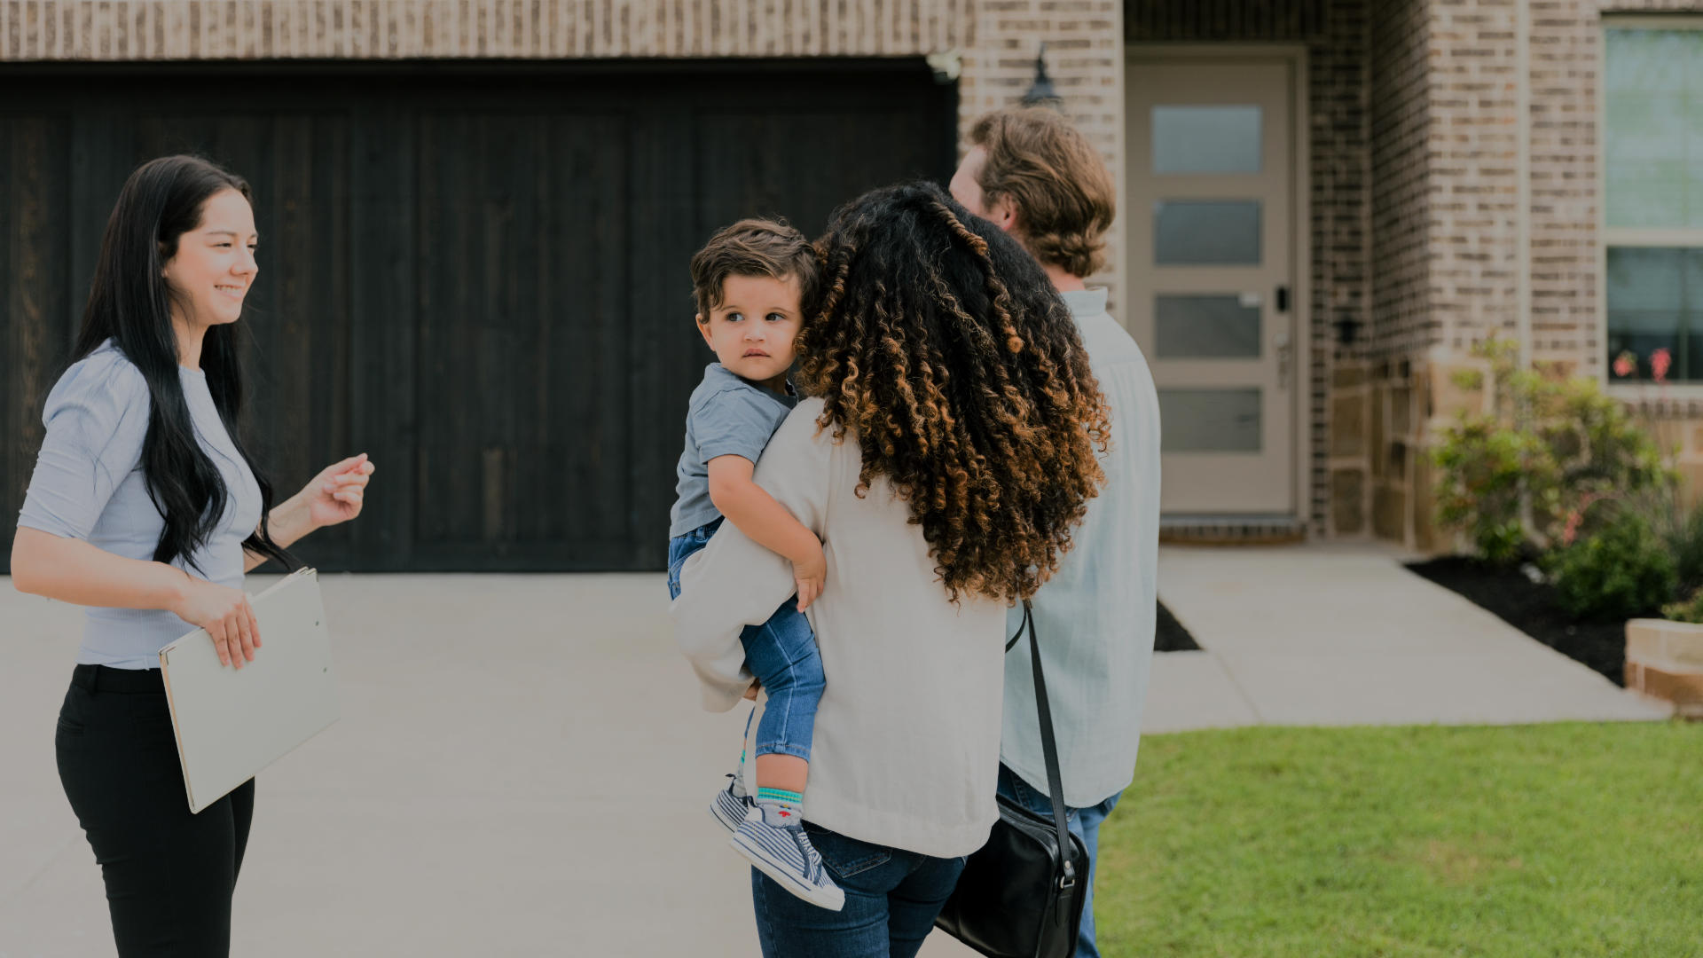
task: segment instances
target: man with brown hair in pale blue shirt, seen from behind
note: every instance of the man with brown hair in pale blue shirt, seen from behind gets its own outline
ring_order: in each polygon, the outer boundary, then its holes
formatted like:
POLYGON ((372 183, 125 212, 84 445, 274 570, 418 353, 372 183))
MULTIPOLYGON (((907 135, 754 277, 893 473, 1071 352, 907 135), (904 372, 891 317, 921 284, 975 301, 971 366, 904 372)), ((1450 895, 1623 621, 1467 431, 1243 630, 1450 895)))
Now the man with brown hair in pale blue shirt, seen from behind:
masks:
MULTIPOLYGON (((1052 813, 1061 798, 1088 847, 1087 907, 1076 958, 1097 958, 1093 863, 1100 823, 1134 779, 1141 707, 1158 603, 1160 413, 1148 361, 1085 280, 1105 259, 1117 210, 1112 174, 1093 145, 1049 109, 1001 109, 976 121, 952 196, 1017 237, 1064 297, 1088 363, 1112 407, 1105 488, 1059 569, 1034 598, 1063 796, 1047 794, 1029 655, 1005 670, 1000 793, 1052 813)), ((1022 610, 1010 624, 1017 631, 1022 610)))

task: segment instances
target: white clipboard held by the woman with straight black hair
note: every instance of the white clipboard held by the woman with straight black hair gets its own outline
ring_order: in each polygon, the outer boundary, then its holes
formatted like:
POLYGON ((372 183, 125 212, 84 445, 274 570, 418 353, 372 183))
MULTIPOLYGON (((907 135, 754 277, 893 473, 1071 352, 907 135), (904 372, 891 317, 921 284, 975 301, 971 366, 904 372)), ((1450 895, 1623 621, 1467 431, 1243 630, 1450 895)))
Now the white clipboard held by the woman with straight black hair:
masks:
POLYGON ((337 721, 318 573, 296 569, 250 600, 261 648, 220 665, 206 629, 160 649, 189 811, 201 811, 337 721))

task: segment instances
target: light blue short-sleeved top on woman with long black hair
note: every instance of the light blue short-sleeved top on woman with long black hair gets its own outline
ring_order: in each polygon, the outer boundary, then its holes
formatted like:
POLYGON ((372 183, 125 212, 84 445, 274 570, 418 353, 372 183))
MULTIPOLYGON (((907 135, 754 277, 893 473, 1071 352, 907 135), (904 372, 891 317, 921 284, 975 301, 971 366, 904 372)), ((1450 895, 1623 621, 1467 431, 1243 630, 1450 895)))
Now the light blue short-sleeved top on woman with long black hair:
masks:
MULTIPOLYGON (((182 557, 172 564, 242 588, 242 542, 261 523, 261 486, 225 431, 206 373, 179 366, 179 378, 196 440, 218 467, 230 499, 194 564, 182 557)), ((148 382, 111 339, 65 370, 43 409, 48 435, 17 525, 82 539, 126 559, 153 559, 165 520, 141 476, 148 409, 148 382)), ((192 629, 163 609, 89 609, 77 663, 158 668, 160 648, 192 629)))

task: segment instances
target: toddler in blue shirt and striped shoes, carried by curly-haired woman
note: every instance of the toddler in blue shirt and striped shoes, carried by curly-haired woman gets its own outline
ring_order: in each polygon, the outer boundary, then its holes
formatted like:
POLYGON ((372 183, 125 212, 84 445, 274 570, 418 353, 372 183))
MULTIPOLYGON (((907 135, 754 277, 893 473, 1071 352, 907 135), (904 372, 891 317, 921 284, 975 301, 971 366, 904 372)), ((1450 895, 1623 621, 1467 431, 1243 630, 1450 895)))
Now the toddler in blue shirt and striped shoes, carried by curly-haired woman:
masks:
POLYGON ((679 597, 679 568, 722 522, 792 561, 799 595, 739 636, 746 668, 768 692, 754 748, 758 793, 746 794, 741 753, 741 770, 715 794, 710 813, 753 866, 799 898, 838 912, 845 893, 823 868, 800 817, 823 695, 823 660, 804 610, 821 595, 828 563, 816 535, 751 479, 763 447, 797 404, 787 370, 817 274, 809 240, 770 220, 741 220, 691 257, 698 332, 717 361, 705 366, 686 409, 668 586, 679 597))

